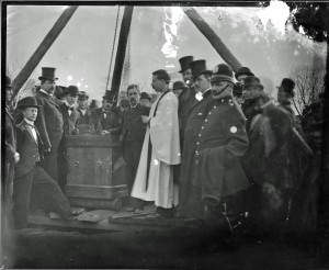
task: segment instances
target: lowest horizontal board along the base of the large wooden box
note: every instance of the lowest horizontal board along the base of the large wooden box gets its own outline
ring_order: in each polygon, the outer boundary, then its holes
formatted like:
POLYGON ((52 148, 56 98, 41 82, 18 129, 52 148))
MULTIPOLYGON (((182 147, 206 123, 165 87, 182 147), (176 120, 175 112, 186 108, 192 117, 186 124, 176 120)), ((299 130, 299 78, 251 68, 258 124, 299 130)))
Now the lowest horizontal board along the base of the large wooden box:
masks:
POLYGON ((90 199, 116 199, 127 196, 127 185, 90 185, 90 184, 67 184, 67 196, 90 198, 90 199))

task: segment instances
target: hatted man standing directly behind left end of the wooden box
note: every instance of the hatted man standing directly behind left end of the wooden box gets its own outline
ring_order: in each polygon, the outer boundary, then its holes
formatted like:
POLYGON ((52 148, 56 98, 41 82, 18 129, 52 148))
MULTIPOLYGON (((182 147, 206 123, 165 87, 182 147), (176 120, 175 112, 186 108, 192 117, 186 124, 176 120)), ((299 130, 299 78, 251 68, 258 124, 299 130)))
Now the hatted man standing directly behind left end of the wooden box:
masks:
POLYGON ((78 109, 80 120, 78 123, 79 134, 97 133, 97 114, 94 110, 88 108, 89 95, 84 91, 78 93, 78 109))

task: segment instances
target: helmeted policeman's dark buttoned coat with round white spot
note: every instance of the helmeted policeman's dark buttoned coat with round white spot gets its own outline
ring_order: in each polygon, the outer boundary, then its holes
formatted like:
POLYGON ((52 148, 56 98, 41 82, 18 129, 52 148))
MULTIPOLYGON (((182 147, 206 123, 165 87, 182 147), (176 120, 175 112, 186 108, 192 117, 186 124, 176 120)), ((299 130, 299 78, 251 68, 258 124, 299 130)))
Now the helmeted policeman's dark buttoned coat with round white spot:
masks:
POLYGON ((218 204, 249 187, 239 160, 249 145, 245 125, 246 117, 232 97, 217 100, 208 111, 195 150, 203 201, 218 204))

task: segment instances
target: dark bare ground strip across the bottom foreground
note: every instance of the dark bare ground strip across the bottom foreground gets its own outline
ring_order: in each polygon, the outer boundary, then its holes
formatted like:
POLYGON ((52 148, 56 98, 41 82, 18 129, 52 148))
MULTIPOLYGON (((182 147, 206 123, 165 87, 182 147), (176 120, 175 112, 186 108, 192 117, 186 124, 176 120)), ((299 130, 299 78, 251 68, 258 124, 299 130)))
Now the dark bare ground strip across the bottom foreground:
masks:
POLYGON ((30 228, 12 235, 4 268, 329 269, 327 256, 277 240, 209 247, 195 232, 81 233, 30 228))

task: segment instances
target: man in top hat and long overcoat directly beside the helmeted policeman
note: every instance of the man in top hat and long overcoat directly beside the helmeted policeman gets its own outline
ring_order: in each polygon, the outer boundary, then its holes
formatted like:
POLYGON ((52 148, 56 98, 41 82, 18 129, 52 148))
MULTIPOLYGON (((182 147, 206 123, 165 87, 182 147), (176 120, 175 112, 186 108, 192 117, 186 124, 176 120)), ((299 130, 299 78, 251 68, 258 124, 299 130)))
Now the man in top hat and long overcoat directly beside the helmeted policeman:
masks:
POLYGON ((185 133, 184 151, 180 171, 180 204, 179 215, 183 217, 204 218, 204 206, 201 199, 201 185, 196 158, 198 151, 196 144, 198 134, 207 116, 207 112, 213 108, 215 100, 212 97, 211 76, 205 60, 195 60, 190 64, 195 91, 198 92, 198 102, 190 112, 185 133))

